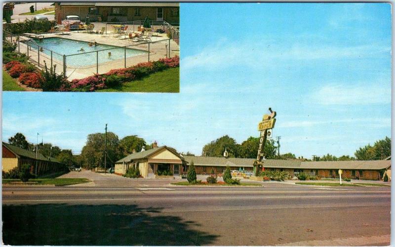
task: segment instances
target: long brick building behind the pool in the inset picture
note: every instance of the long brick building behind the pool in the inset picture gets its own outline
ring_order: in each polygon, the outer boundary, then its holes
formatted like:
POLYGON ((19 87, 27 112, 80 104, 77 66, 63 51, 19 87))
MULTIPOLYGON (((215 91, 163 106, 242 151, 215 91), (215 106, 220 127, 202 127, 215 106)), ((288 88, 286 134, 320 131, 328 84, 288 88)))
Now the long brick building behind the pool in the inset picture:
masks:
POLYGON ((68 15, 82 21, 120 22, 144 20, 180 24, 180 7, 176 2, 55 2, 55 20, 60 23, 68 15))

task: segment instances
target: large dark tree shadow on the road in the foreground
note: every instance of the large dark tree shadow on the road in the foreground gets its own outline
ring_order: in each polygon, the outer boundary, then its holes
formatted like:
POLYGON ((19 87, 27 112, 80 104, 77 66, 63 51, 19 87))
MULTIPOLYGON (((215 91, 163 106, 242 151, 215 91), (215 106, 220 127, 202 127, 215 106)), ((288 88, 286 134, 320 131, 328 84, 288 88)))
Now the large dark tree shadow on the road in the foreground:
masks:
POLYGON ((3 205, 3 243, 196 246, 210 245, 218 237, 196 230, 194 221, 161 210, 136 205, 3 205))

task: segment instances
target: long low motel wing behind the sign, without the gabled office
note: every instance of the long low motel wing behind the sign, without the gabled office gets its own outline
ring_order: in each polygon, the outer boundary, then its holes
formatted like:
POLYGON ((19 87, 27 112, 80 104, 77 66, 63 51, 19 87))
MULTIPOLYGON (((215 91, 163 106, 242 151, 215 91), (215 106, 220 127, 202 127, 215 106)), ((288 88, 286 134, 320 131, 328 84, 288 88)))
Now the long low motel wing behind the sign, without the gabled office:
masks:
MULTIPOLYGON (((253 170, 255 159, 184 156, 184 160, 190 165, 194 162, 197 174, 209 174, 212 170, 216 174, 223 173, 226 166, 231 170, 253 170)), ((360 179, 382 179, 380 170, 391 171, 391 160, 366 160, 366 161, 302 161, 302 160, 265 160, 264 168, 267 171, 283 171, 291 175, 300 172, 310 176, 339 177, 339 169, 343 170, 342 177, 360 179)), ((184 169, 185 170, 185 169, 184 169)))

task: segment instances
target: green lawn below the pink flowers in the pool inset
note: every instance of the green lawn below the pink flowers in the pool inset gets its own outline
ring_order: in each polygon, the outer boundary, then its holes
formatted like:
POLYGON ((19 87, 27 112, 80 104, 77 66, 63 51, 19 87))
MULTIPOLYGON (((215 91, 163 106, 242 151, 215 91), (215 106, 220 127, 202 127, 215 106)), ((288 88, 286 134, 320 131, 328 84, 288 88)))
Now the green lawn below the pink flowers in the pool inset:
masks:
POLYGON ((97 92, 152 92, 178 93, 180 92, 180 68, 169 68, 149 76, 113 88, 97 90, 97 92))

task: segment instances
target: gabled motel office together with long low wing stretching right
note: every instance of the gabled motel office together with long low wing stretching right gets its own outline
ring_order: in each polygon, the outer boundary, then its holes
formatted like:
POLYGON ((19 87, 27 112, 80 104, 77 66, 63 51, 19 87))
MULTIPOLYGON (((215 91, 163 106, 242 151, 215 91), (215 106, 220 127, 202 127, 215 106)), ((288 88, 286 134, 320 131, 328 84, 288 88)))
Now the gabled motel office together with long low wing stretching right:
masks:
MULTIPOLYGON (((188 170, 194 162, 197 174, 222 174, 226 167, 231 170, 252 171, 255 159, 182 156, 173 148, 158 147, 135 152, 116 162, 115 173, 123 175, 130 166, 138 167, 143 177, 158 177, 158 171, 171 171, 174 176, 179 176, 188 170)), ((339 177, 339 169, 343 170, 342 177, 353 179, 382 180, 382 174, 390 171, 391 160, 369 161, 303 161, 294 160, 265 160, 265 170, 283 171, 293 176, 304 172, 310 176, 339 177)))

